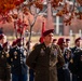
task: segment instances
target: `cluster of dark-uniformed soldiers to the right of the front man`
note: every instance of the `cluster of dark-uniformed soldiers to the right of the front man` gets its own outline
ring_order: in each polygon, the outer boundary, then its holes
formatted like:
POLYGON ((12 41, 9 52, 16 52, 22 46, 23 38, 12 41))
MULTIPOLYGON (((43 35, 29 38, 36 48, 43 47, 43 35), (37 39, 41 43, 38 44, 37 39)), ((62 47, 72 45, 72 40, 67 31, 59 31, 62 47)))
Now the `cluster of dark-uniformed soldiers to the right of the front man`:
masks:
POLYGON ((65 58, 65 65, 57 69, 58 81, 82 81, 82 38, 74 40, 74 46, 70 48, 70 39, 53 39, 58 45, 65 58))

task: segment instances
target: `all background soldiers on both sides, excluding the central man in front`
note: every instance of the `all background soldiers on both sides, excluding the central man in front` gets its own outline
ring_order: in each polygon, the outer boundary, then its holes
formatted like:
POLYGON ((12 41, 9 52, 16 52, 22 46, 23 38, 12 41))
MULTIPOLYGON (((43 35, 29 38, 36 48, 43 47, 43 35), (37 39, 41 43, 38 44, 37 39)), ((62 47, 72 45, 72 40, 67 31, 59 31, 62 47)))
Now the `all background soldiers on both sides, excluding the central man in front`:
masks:
MULTIPOLYGON (((57 43, 55 43, 55 41, 54 39, 52 43, 59 45, 65 58, 64 66, 57 69, 58 81, 71 81, 71 73, 72 81, 82 81, 81 38, 76 39, 74 48, 69 46, 70 39, 59 38, 57 43)), ((27 49, 22 45, 22 38, 16 39, 12 45, 9 46, 6 37, 3 33, 0 35, 0 81, 10 81, 11 72, 12 81, 27 81, 27 49)), ((33 70, 30 70, 29 80, 33 81, 33 70)))

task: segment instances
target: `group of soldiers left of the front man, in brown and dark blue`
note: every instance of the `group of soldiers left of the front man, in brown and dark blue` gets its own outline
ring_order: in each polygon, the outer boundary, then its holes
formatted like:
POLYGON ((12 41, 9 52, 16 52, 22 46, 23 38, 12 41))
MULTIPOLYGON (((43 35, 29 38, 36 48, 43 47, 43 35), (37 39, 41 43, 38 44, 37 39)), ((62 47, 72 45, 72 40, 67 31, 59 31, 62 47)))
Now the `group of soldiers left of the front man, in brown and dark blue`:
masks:
POLYGON ((27 81, 26 56, 22 38, 9 45, 6 37, 0 35, 0 81, 27 81))

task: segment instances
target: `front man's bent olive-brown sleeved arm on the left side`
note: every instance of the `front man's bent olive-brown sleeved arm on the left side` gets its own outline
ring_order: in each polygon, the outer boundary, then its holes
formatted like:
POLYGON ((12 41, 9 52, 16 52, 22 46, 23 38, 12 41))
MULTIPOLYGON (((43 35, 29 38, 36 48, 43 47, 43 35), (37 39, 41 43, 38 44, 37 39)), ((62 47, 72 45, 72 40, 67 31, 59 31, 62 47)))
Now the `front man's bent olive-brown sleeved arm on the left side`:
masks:
POLYGON ((37 57, 38 57, 38 51, 39 51, 39 49, 38 49, 38 46, 36 46, 36 48, 30 52, 30 54, 28 55, 28 57, 26 58, 26 64, 27 64, 30 68, 32 68, 32 69, 35 69, 35 67, 36 67, 37 57))

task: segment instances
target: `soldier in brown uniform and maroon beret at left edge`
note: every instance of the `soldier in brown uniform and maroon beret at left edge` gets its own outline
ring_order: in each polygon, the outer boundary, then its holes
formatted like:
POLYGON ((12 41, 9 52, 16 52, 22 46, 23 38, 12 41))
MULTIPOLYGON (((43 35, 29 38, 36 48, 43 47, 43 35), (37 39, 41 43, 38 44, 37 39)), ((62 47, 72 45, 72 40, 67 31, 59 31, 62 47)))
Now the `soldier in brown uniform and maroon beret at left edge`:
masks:
POLYGON ((9 57, 9 43, 3 43, 3 50, 0 54, 0 78, 1 81, 10 81, 11 79, 11 67, 8 64, 8 57, 9 57))

